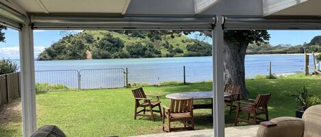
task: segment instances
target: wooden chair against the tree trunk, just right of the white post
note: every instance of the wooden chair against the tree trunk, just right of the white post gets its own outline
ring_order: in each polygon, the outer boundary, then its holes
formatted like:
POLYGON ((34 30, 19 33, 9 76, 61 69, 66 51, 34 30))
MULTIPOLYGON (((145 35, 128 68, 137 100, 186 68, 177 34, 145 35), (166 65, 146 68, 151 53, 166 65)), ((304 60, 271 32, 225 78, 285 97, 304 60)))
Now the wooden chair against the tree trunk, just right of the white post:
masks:
POLYGON ((232 110, 236 109, 233 102, 240 101, 241 85, 227 84, 225 85, 224 92, 231 94, 229 97, 224 97, 224 102, 229 106, 229 114, 231 114, 232 110))

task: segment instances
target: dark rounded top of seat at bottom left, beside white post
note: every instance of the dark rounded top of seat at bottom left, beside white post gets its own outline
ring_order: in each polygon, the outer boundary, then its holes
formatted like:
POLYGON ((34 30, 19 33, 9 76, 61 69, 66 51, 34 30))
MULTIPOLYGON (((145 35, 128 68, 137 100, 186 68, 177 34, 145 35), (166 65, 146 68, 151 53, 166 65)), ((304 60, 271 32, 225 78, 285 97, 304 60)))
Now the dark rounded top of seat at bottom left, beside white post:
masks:
POLYGON ((66 135, 55 125, 44 125, 30 137, 66 137, 66 135))

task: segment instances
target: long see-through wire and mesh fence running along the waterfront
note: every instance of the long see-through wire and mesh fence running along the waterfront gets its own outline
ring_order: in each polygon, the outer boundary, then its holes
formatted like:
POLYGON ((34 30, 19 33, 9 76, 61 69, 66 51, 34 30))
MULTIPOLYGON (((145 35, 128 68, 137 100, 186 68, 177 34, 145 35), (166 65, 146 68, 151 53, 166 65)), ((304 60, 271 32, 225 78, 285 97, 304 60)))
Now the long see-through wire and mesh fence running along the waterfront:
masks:
MULTIPOLYGON (((311 63, 312 61, 310 61, 311 63)), ((257 75, 275 76, 304 71, 304 61, 251 61, 245 63, 247 78, 257 75)), ((311 64, 312 65, 312 64, 311 64)), ((164 85, 174 82, 203 82, 213 80, 211 64, 186 66, 148 66, 92 69, 36 71, 36 91, 70 89, 105 89, 142 85, 164 85), (168 82, 168 83, 166 83, 168 82)))

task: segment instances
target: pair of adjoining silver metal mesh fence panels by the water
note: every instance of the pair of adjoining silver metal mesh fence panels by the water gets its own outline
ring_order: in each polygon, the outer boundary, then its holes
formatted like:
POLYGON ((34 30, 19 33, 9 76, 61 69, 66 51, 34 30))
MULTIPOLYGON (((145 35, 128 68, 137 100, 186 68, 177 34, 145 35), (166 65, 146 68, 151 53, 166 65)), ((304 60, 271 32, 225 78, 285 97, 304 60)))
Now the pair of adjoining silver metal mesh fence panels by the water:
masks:
POLYGON ((125 87, 123 68, 92 70, 41 70, 35 72, 36 91, 125 87))

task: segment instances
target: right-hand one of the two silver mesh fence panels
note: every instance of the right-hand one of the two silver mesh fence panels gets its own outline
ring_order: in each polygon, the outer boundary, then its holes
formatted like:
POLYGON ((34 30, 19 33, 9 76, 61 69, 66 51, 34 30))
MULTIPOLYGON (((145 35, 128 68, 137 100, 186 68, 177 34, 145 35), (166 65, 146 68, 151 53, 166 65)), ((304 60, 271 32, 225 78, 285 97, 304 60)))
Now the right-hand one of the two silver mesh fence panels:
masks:
POLYGON ((125 70, 123 68, 80 70, 81 89, 104 89, 125 87, 125 70))

